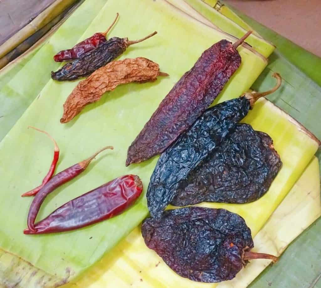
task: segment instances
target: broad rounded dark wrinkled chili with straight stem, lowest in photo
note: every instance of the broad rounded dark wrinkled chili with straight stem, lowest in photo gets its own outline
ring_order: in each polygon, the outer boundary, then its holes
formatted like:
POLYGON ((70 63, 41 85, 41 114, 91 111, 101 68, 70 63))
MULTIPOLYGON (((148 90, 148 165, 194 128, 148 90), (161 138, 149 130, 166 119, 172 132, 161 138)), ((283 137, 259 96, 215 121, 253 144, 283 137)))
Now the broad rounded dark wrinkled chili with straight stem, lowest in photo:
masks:
POLYGON ((187 207, 165 211, 160 220, 143 221, 142 235, 178 275, 214 283, 233 279, 251 259, 277 257, 254 253, 251 230, 238 214, 225 209, 187 207))

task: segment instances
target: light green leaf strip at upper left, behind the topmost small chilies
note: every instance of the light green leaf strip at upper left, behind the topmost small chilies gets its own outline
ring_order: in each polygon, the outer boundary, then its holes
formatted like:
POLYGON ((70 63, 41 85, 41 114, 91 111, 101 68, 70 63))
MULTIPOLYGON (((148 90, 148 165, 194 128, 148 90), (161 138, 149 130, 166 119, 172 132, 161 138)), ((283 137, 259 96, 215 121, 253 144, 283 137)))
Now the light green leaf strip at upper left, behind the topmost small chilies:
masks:
MULTIPOLYGON (((106 1, 96 0, 94 5, 91 1, 85 1, 80 6, 81 8, 77 9, 47 43, 36 52, 32 61, 23 62, 23 69, 15 67, 14 69, 19 71, 10 81, 0 86, 0 140, 39 95, 41 89, 50 79, 50 71, 56 70, 61 65, 48 55, 53 56, 62 49, 72 47, 106 1)), ((101 27, 101 29, 104 31, 106 27, 101 27)), ((11 76, 11 74, 7 76, 11 76)), ((6 79, 4 78, 4 80, 6 79)))

